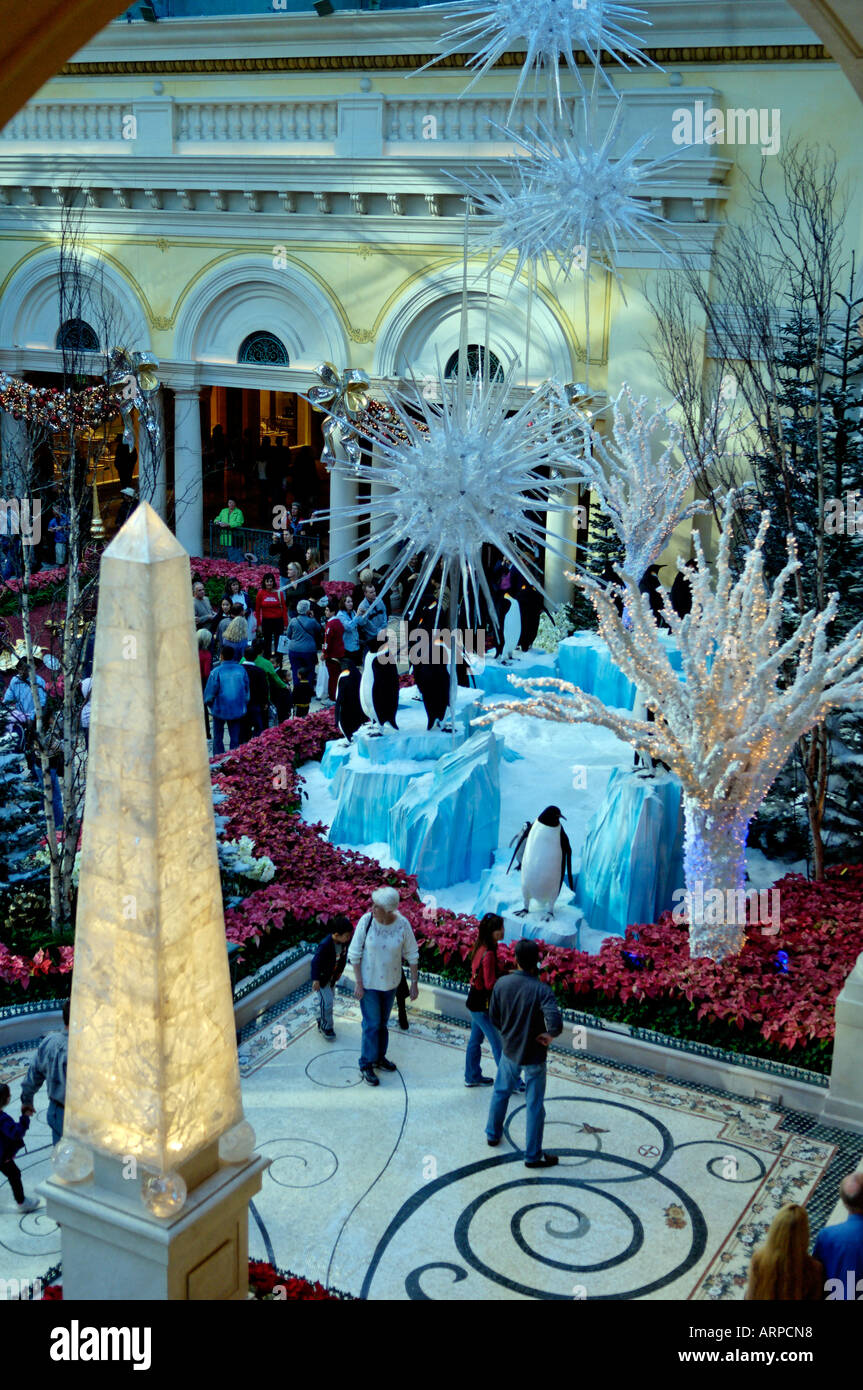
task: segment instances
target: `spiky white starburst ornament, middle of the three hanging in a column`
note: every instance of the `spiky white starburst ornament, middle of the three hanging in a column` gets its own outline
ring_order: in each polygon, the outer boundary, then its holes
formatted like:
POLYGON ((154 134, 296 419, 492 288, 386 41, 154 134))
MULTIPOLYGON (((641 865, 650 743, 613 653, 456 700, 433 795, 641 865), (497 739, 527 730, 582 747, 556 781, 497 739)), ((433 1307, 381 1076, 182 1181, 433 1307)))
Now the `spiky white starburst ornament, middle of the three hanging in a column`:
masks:
POLYGON ((667 238, 673 228, 649 200, 656 178, 680 156, 645 160, 652 139, 646 133, 613 158, 623 110, 618 101, 598 145, 586 101, 581 121, 573 117, 553 129, 539 120, 527 135, 496 126, 524 152, 500 160, 510 177, 485 170, 471 170, 467 178, 449 175, 479 213, 495 218, 495 225, 478 229, 492 268, 516 252, 513 279, 528 264, 542 264, 549 278, 596 265, 620 284, 614 261, 621 240, 666 253, 657 235, 661 231, 667 238))

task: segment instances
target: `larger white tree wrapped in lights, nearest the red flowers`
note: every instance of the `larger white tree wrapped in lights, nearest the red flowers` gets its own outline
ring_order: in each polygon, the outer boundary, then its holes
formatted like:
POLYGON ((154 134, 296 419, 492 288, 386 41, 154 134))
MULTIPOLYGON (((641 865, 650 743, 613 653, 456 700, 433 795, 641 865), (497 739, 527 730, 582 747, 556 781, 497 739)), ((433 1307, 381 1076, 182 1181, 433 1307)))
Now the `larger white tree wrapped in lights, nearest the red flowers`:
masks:
MULTIPOLYGON (((749 821, 773 778, 802 734, 831 710, 863 703, 863 623, 835 646, 827 628, 838 595, 821 613, 807 613, 782 642, 784 595, 799 562, 792 538, 788 560, 773 589, 764 581, 763 545, 770 513, 743 569, 731 573, 732 496, 725 500, 716 577, 695 537, 691 571, 692 610, 680 619, 661 589, 664 617, 680 651, 681 670, 670 662, 646 595, 624 575, 631 627, 614 606, 614 591, 592 580, 577 582, 589 595, 599 631, 617 666, 639 688, 655 723, 609 709, 595 695, 552 678, 517 680, 527 703, 498 705, 493 721, 518 710, 560 723, 586 721, 610 728, 635 748, 661 759, 684 788, 687 891, 730 892, 737 902, 745 883, 749 821)), ((680 562, 678 562, 680 564, 680 562)), ((713 899, 716 901, 716 899, 713 899)), ((739 915, 732 915, 739 916, 739 915)), ((693 956, 721 960, 741 949, 745 923, 689 923, 693 956)))

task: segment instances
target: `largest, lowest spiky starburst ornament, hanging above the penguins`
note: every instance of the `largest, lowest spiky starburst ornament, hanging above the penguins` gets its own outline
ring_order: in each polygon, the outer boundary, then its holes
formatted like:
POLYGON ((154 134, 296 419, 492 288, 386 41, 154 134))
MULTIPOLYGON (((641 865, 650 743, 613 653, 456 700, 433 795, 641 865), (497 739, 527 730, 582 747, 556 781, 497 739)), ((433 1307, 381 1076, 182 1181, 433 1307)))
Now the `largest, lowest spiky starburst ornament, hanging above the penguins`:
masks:
MULTIPOLYGON (((397 552, 396 562, 385 566, 382 592, 420 562, 409 616, 438 570, 441 592, 449 589, 450 605, 464 603, 468 626, 479 616, 481 596, 493 614, 482 569, 482 548, 489 543, 539 588, 542 546, 571 563, 571 552, 554 548, 541 520, 542 513, 570 510, 556 495, 560 484, 552 473, 575 468, 567 443, 571 417, 552 384, 518 403, 517 370, 513 363, 502 381, 467 373, 447 378, 438 363, 436 402, 413 381, 389 396, 385 413, 367 413, 354 425, 374 450, 363 477, 384 488, 372 488, 375 495, 347 516, 368 525, 372 569, 397 552)), ((339 518, 345 516, 339 512, 339 518)), ((361 541, 350 555, 368 548, 361 541)))

